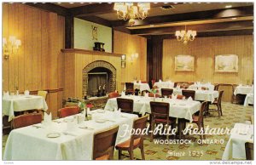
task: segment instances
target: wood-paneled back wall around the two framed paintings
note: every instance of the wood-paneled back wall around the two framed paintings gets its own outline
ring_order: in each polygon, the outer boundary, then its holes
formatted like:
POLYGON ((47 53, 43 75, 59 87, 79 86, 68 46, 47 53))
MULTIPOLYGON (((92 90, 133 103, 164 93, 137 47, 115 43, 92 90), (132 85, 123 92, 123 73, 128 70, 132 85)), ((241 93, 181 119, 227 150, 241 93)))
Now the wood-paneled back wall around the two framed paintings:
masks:
MULTIPOLYGON (((166 39, 163 45, 163 78, 175 81, 245 84, 253 81, 253 36, 198 37, 184 45, 176 39, 166 39), (195 56, 195 71, 174 71, 177 54, 195 56), (237 54, 238 73, 214 71, 216 54, 237 54)), ((231 90, 224 91, 224 100, 230 100, 231 90), (227 94, 228 93, 228 94, 227 94), (228 97, 229 96, 229 97, 228 97)))

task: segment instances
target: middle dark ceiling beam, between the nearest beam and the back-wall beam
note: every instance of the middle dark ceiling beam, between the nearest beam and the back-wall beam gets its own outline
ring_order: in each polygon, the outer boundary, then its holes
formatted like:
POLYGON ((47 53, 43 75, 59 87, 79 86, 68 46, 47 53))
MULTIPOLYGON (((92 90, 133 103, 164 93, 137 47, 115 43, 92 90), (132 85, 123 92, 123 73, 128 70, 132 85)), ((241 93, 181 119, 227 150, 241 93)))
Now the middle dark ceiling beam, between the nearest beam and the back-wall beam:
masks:
MULTIPOLYGON (((136 35, 159 35, 159 34, 172 34, 175 31, 184 30, 184 26, 170 26, 170 27, 157 27, 148 29, 131 30, 131 34, 136 35)), ((212 24, 201 24, 187 26, 187 29, 193 31, 222 31, 222 30, 238 30, 253 28, 253 20, 241 20, 233 22, 219 22, 212 24)))

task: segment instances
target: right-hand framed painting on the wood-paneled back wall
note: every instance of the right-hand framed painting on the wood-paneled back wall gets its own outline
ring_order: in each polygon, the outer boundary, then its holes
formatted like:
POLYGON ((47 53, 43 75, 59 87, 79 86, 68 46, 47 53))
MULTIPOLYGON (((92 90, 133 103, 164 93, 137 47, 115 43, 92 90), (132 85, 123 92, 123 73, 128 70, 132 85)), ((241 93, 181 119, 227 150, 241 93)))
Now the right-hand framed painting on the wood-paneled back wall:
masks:
POLYGON ((215 71, 238 72, 238 56, 236 54, 216 55, 215 71))

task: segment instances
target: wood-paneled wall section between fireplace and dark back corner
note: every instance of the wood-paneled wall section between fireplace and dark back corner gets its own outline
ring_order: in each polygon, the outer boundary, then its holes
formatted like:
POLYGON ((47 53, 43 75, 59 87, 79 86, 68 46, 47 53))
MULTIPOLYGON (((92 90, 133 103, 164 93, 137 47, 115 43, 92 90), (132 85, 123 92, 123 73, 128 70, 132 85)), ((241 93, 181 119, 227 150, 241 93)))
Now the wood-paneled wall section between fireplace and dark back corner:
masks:
POLYGON ((121 69, 121 83, 147 80, 147 39, 124 32, 114 31, 114 53, 126 54, 126 66, 121 69), (138 59, 131 61, 131 54, 138 54, 138 59))

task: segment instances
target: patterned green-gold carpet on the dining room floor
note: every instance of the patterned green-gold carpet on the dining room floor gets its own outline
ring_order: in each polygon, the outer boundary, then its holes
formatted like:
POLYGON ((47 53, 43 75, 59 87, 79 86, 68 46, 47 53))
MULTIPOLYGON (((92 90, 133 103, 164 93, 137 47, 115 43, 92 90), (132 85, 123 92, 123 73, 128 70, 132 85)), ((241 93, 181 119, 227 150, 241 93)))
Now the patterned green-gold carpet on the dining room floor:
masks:
MULTIPOLYGON (((218 118, 218 113, 212 113, 210 116, 204 118, 205 127, 209 128, 233 128, 236 122, 249 121, 253 114, 253 106, 244 107, 243 105, 235 105, 230 103, 223 103, 223 117, 218 118)), ((195 126, 196 127, 196 126, 195 126)), ((205 144, 198 145, 192 143, 191 145, 164 145, 154 144, 146 137, 144 140, 144 151, 146 160, 221 160, 225 145, 229 140, 230 135, 207 135, 207 139, 224 139, 224 144, 205 144), (196 152, 198 151, 198 152, 196 152), (176 155, 173 155, 175 153, 176 155)), ((3 136, 3 148, 8 135, 3 136)), ((186 139, 192 139, 195 142, 200 139, 198 135, 186 135, 186 139)), ((157 137, 155 139, 164 139, 164 137, 157 137)), ((173 137, 170 137, 173 139, 173 137)), ((128 152, 124 151, 123 159, 129 160, 128 152)), ((134 156, 141 159, 140 150, 134 151, 134 156)), ((115 151, 114 159, 118 159, 118 153, 115 151)))

